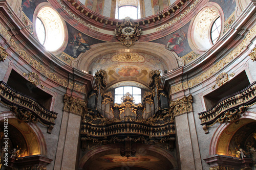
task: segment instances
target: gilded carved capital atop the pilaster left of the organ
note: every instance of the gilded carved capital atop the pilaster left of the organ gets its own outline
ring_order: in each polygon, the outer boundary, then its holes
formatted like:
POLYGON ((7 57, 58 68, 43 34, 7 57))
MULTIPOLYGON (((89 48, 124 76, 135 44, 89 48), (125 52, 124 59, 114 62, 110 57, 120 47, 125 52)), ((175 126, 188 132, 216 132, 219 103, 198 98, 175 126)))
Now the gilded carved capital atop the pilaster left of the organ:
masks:
POLYGON ((68 96, 67 94, 65 94, 63 110, 83 116, 87 113, 88 110, 87 102, 73 98, 73 96, 68 96))

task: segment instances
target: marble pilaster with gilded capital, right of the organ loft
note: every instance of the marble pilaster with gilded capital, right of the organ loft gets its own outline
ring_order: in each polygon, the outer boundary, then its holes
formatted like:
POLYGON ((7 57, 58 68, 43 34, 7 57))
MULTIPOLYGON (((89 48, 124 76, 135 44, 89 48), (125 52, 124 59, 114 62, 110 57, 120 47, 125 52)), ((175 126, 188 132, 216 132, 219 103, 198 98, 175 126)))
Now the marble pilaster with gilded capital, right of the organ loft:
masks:
POLYGON ((169 103, 170 112, 175 116, 176 145, 179 151, 180 168, 200 170, 202 162, 192 107, 192 95, 184 96, 169 103))

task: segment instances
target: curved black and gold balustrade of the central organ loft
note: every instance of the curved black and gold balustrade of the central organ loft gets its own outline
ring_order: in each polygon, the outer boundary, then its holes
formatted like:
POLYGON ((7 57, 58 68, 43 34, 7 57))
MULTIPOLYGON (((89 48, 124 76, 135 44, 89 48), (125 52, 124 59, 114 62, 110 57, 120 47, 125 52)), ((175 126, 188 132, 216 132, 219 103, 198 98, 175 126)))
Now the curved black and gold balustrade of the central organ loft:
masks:
POLYGON ((124 119, 108 119, 102 116, 84 115, 81 125, 83 150, 86 149, 88 142, 122 142, 127 136, 130 136, 133 142, 174 142, 174 120, 168 115, 139 120, 130 116, 124 119))

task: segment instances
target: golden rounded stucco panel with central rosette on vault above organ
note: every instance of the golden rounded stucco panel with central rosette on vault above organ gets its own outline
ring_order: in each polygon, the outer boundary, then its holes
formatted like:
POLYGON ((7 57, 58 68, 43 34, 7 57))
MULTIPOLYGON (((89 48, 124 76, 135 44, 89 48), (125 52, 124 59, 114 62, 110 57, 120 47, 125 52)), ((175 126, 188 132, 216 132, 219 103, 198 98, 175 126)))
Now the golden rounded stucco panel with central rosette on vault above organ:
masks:
POLYGON ((112 57, 114 62, 144 62, 145 58, 138 53, 119 53, 112 57))

